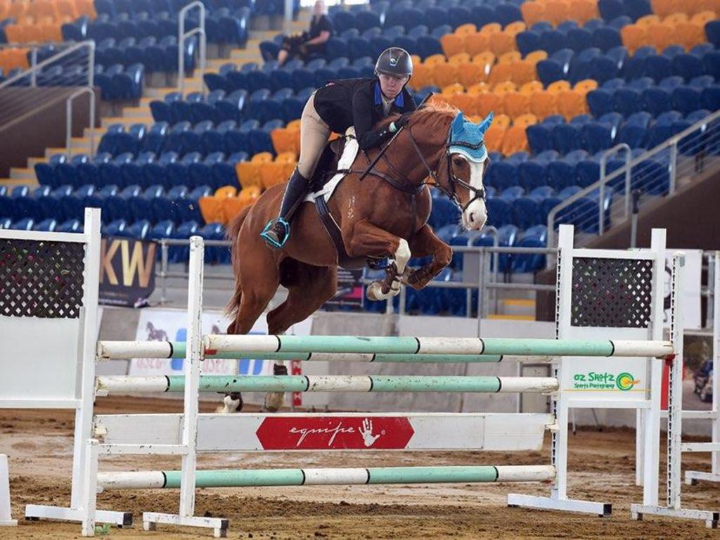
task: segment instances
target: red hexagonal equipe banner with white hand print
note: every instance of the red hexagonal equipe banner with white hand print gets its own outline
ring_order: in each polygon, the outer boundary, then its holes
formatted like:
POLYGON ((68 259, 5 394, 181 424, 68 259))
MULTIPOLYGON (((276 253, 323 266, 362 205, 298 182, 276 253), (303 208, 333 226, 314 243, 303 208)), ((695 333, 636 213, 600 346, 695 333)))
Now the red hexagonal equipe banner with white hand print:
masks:
POLYGON ((404 449, 415 430, 405 416, 265 418, 256 436, 266 450, 404 449))

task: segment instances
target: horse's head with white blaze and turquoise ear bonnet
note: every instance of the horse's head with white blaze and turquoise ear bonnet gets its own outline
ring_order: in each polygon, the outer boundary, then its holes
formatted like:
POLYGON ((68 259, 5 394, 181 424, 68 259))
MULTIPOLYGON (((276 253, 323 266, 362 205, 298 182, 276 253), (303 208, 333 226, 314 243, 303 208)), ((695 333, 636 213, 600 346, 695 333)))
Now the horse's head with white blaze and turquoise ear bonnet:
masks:
POLYGON ((437 187, 458 205, 469 230, 480 230, 487 221, 483 176, 490 159, 484 138, 490 124, 492 112, 479 124, 459 112, 450 125, 446 166, 438 164, 437 187))

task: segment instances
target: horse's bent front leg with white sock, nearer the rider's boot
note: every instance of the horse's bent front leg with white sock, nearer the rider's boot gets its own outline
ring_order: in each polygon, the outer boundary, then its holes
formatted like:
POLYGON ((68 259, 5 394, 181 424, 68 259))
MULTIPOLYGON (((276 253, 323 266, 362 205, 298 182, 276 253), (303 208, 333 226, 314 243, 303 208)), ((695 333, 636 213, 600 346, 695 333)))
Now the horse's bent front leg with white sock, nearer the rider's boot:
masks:
POLYGON ((368 220, 343 230, 343 242, 351 257, 390 258, 387 276, 382 282, 373 282, 367 288, 369 300, 387 300, 400 293, 400 283, 410 260, 408 240, 373 225, 368 220))

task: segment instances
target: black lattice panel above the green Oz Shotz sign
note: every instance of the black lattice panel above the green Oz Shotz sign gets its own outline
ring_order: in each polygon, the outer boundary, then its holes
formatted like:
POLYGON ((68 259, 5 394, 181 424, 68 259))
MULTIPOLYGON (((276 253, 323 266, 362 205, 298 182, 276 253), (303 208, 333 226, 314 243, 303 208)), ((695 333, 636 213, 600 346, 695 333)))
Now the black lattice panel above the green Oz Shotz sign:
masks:
POLYGON ((573 326, 648 328, 652 309, 651 260, 575 257, 573 326))

